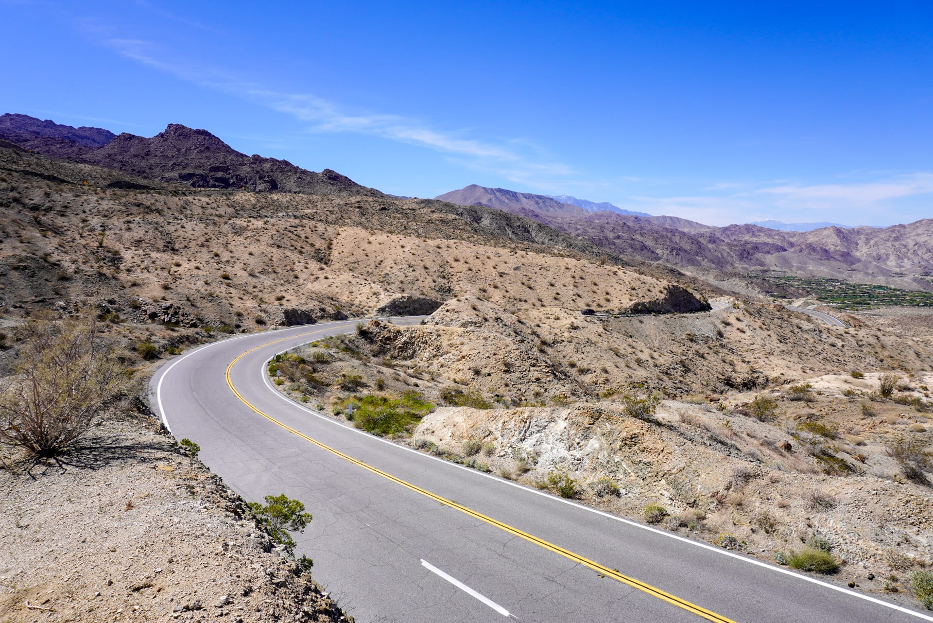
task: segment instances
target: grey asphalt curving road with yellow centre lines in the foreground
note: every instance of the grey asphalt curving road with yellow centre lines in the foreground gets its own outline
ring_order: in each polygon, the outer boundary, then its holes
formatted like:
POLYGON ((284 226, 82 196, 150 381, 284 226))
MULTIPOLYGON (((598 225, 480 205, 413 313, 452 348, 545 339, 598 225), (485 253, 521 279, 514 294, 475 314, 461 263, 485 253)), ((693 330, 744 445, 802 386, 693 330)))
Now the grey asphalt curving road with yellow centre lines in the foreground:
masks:
POLYGON ((174 436, 199 443, 245 499, 285 492, 308 506, 298 552, 360 623, 933 621, 397 446, 272 388, 273 354, 354 325, 208 344, 166 362, 150 389, 174 436))

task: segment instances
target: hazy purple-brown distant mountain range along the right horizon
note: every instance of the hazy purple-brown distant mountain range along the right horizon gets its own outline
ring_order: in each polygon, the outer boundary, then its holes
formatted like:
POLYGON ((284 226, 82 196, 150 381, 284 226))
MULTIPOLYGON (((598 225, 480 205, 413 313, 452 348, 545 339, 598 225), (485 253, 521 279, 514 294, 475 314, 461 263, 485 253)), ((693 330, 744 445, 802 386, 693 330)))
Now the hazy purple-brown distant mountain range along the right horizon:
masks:
POLYGON ((774 270, 929 289, 930 284, 901 272, 933 270, 933 219, 890 228, 717 228, 677 216, 590 212, 506 188, 471 185, 437 199, 533 218, 633 262, 661 262, 714 280, 723 272, 774 270))

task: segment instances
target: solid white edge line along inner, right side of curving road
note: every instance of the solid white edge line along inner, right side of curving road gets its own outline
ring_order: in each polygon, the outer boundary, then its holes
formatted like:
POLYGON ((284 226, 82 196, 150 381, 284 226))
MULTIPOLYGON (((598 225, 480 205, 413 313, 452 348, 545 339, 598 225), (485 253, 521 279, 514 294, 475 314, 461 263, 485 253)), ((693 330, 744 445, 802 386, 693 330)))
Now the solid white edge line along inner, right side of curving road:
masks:
MULTIPOLYGON (((287 352, 287 351, 290 351, 290 350, 293 349, 293 348, 297 348, 298 346, 303 346, 304 344, 307 344, 307 343, 310 343, 310 342, 301 342, 300 344, 295 344, 294 346, 290 346, 290 347, 288 347, 288 348, 286 348, 286 349, 284 349, 284 350, 282 350, 282 351, 279 351, 278 353, 275 353, 275 354, 285 353, 285 352, 287 352)), ((274 355, 273 355, 273 356, 274 356, 274 355)), ((857 597, 858 599, 865 600, 865 601, 867 601, 867 602, 877 603, 878 605, 883 605, 883 606, 886 607, 886 608, 891 608, 891 609, 893 609, 893 610, 898 610, 899 612, 903 612, 903 613, 906 613, 906 614, 908 614, 908 615, 916 616, 916 617, 918 617, 918 618, 922 618, 922 619, 925 619, 925 620, 927 620, 927 621, 933 621, 933 616, 926 616, 926 615, 924 615, 923 613, 917 612, 917 611, 915 611, 915 610, 911 610, 910 608, 905 608, 904 606, 898 605, 897 603, 885 602, 884 600, 880 600, 880 599, 877 599, 877 598, 875 598, 875 597, 871 597, 870 595, 867 595, 867 594, 864 594, 864 593, 856 592, 855 590, 849 590, 848 588, 838 587, 838 586, 836 586, 835 584, 829 584, 829 582, 824 582, 824 581, 822 581, 822 580, 818 580, 818 579, 816 579, 815 577, 810 577, 809 575, 798 574, 798 573, 795 573, 795 572, 793 572, 793 571, 790 571, 789 569, 783 569, 783 568, 778 567, 778 566, 775 566, 775 565, 773 565, 773 564, 769 564, 768 562, 765 562, 765 561, 759 561, 759 560, 756 560, 756 559, 753 559, 753 558, 747 558, 747 557, 742 556, 742 555, 740 555, 740 554, 736 554, 736 553, 734 553, 734 552, 731 552, 731 551, 728 550, 728 549, 723 549, 722 547, 711 546, 711 545, 709 545, 709 544, 707 544, 707 543, 701 543, 700 541, 694 541, 694 540, 692 540, 692 539, 685 538, 685 537, 679 536, 679 535, 677 535, 677 534, 672 534, 672 533, 669 533, 669 532, 665 532, 665 531, 663 531, 663 530, 659 530, 659 529, 657 529, 657 528, 652 528, 652 527, 650 527, 650 526, 646 526, 646 525, 643 524, 643 523, 638 523, 637 521, 633 521, 633 520, 631 520, 631 519, 625 519, 625 518, 622 518, 622 517, 618 517, 618 516, 616 516, 616 515, 611 515, 611 514, 609 514, 609 513, 604 512, 604 511, 597 510, 596 508, 591 508, 590 506, 581 505, 581 504, 578 504, 578 503, 576 503, 576 502, 571 502, 570 500, 565 500, 564 498, 555 497, 555 496, 551 495, 550 493, 545 493, 545 492, 543 492, 543 491, 538 491, 538 490, 536 490, 536 489, 531 489, 530 487, 526 487, 525 485, 521 485, 521 484, 519 484, 519 483, 517 483, 517 482, 513 482, 513 481, 511 481, 511 480, 506 480, 506 479, 504 479, 504 478, 498 478, 498 477, 493 476, 492 474, 484 474, 484 473, 478 472, 478 471, 476 471, 475 469, 472 469, 472 468, 470 468, 470 467, 466 467, 466 466, 464 466, 464 465, 455 464, 455 463, 452 463, 452 462, 447 461, 447 460, 445 460, 445 459, 441 459, 441 458, 439 458, 439 457, 437 457, 437 456, 431 456, 430 454, 425 454, 425 452, 422 452, 422 451, 420 451, 420 450, 414 450, 414 449, 408 448, 408 447, 406 447, 406 446, 402 446, 402 445, 400 445, 400 444, 395 443, 394 441, 389 441, 388 439, 383 439, 383 437, 380 437, 380 436, 370 435, 370 434, 367 433, 366 431, 361 431, 361 430, 359 430, 358 428, 355 428, 355 426, 349 426, 349 425, 347 425, 347 424, 344 424, 343 422, 339 422, 338 420, 334 420, 333 418, 328 417, 327 415, 325 415, 325 414, 323 414, 323 413, 319 413, 318 411, 315 411, 313 408, 307 408, 307 407, 305 407, 304 405, 302 405, 302 404, 300 404, 300 403, 298 403, 298 402, 292 400, 292 399, 289 398, 288 396, 282 394, 282 392, 280 392, 280 391, 278 391, 277 389, 275 389, 275 388, 272 386, 272 384, 269 382, 269 375, 266 374, 266 366, 268 365, 268 363, 269 363, 270 361, 272 361, 272 357, 269 357, 268 359, 264 359, 263 362, 262 362, 262 366, 259 368, 259 374, 261 375, 262 380, 263 380, 263 383, 266 385, 266 387, 267 387, 270 391, 272 391, 272 393, 273 393, 274 395, 277 395, 277 396, 279 396, 282 400, 285 400, 285 402, 287 402, 289 405, 292 405, 292 406, 294 406, 294 407, 297 407, 297 408, 300 408, 300 409, 302 409, 302 410, 304 410, 304 411, 307 411, 308 413, 311 413, 313 416, 316 416, 316 417, 320 418, 321 420, 324 420, 325 422, 330 422, 331 424, 335 424, 335 425, 337 425, 337 426, 342 426, 343 428, 346 428, 347 430, 353 431, 353 432, 356 433, 356 434, 368 436, 368 437, 370 437, 370 438, 372 438, 372 439, 374 439, 374 440, 376 440, 376 441, 380 441, 380 442, 382 442, 382 443, 384 443, 384 444, 388 444, 388 445, 392 446, 393 448, 397 448, 398 450, 405 450, 405 451, 407 451, 407 452, 412 452, 412 453, 414 453, 414 454, 417 454, 418 456, 424 457, 425 459, 431 459, 432 461, 439 461, 440 463, 445 464, 445 465, 448 465, 448 466, 450 466, 450 467, 455 467, 455 468, 457 468, 457 469, 462 469, 462 470, 464 470, 464 471, 466 471, 466 472, 469 472, 470 474, 473 474, 474 476, 480 476, 480 477, 482 477, 482 478, 490 478, 490 479, 494 480, 495 482, 499 482, 499 483, 501 483, 501 484, 508 485, 508 486, 510 486, 510 487, 516 487, 516 488, 518 488, 518 489, 521 489, 522 491, 527 491, 527 492, 529 492, 529 493, 534 493, 534 494, 536 494, 536 495, 540 495, 541 497, 544 497, 544 498, 549 499, 551 502, 560 502, 560 503, 562 503, 562 504, 571 505, 571 506, 576 506, 576 507, 578 507, 578 508, 581 508, 582 510, 585 510, 585 511, 588 511, 588 512, 591 512, 591 513, 595 513, 595 514, 597 514, 597 515, 601 515, 602 517, 605 517, 606 519, 614 519, 614 520, 620 521, 620 522, 622 522, 622 523, 624 523, 624 524, 633 526, 634 528, 640 528, 641 530, 647 530, 647 531, 650 532, 650 533, 661 534, 661 536, 666 536, 666 537, 668 537, 668 538, 676 539, 677 541, 680 541, 680 542, 682 542, 682 543, 687 543, 687 544, 689 544, 689 545, 691 545, 691 546, 693 546, 693 547, 703 547, 703 549, 707 549, 707 550, 709 550, 709 551, 716 552, 717 554, 720 554, 720 555, 722 555, 722 556, 729 556, 730 558, 733 558, 733 559, 735 559, 735 560, 737 560, 737 561, 748 562, 748 563, 750 563, 750 564, 757 565, 757 566, 762 567, 762 568, 764 568, 764 569, 769 569, 769 570, 771 570, 771 571, 773 571, 773 572, 776 572, 776 573, 779 573, 779 574, 789 575, 789 576, 791 576, 791 577, 796 577, 796 578, 798 578, 798 579, 805 580, 805 581, 810 582, 811 584, 815 584, 815 585, 817 585, 817 586, 821 586, 821 587, 824 587, 824 588, 831 588, 832 590, 836 590, 836 591, 838 591, 838 592, 841 592, 841 593, 843 593, 843 594, 845 594, 845 595, 849 595, 849 596, 851 596, 851 597, 857 597)))

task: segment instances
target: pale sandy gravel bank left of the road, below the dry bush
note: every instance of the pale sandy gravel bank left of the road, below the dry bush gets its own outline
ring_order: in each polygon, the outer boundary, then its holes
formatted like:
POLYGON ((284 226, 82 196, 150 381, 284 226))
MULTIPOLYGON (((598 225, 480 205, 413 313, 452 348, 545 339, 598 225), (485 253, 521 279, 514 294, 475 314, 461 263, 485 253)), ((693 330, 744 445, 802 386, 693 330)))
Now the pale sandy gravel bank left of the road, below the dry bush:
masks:
POLYGON ((353 620, 154 418, 3 459, 0 623, 353 620))

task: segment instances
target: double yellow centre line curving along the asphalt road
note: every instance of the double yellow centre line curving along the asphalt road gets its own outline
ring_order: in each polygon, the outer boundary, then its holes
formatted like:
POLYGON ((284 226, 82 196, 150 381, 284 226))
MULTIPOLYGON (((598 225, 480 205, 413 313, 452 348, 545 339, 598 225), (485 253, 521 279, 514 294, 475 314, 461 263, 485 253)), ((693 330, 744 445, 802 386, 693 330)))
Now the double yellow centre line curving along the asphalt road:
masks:
POLYGON ((276 339, 274 341, 267 342, 265 344, 262 344, 261 346, 257 346, 256 348, 252 348, 246 351, 245 353, 240 354, 240 356, 238 356, 236 359, 231 361, 230 366, 227 367, 227 384, 230 386, 230 390, 233 392, 234 395, 236 395, 237 398, 243 401, 244 405, 246 405, 247 407, 257 412, 259 415, 264 417, 266 420, 269 420, 270 422, 278 426, 281 426, 282 428, 284 428, 289 433, 292 433, 293 435, 297 435, 306 441, 310 441, 311 443, 313 443, 315 446, 317 446, 321 450, 327 450, 331 454, 341 457, 341 459, 343 459, 344 461, 348 461, 352 464, 359 465, 363 469, 366 469, 369 472, 372 472, 373 474, 377 474, 383 478, 386 478, 387 480, 391 480, 392 482, 395 482, 401 485, 402 487, 405 487, 406 489, 410 489, 411 491, 421 493, 425 497, 431 498, 432 500, 435 500, 442 505, 450 506, 451 508, 459 510, 461 513, 464 513, 465 515, 468 515, 469 517, 472 517, 474 519, 480 519, 480 521, 484 521, 485 523, 488 523, 491 526, 495 526, 499 530, 502 530, 514 536, 521 537, 525 541, 528 541, 529 543, 534 543, 538 547, 544 547, 545 549, 552 551, 555 554, 560 554, 561 556, 563 556, 564 558, 570 561, 574 561, 574 562, 577 562, 578 564, 582 564, 586 567, 589 567, 600 575, 605 575, 606 577, 617 580, 621 582, 622 584, 627 584, 630 587, 637 588, 638 590, 648 593, 648 595, 651 595, 652 597, 657 597, 658 599, 664 602, 671 603, 677 606, 678 608, 682 608, 690 613, 693 613, 696 616, 702 616, 706 620, 716 621, 717 623, 735 623, 735 621, 733 621, 730 618, 726 618, 725 616, 722 616, 722 615, 717 615, 715 612, 706 610, 705 608, 698 606, 695 603, 691 603, 691 602, 688 602, 687 600, 680 599, 679 597, 672 595, 671 593, 661 590, 661 588, 652 587, 651 585, 646 584, 645 582, 642 582, 641 580, 637 580, 634 577, 620 574, 619 570, 617 569, 609 569, 608 567, 605 567, 598 562, 591 561, 587 558, 580 556, 579 554, 575 554, 574 552, 568 549, 564 549, 564 547, 556 546, 553 543, 549 543, 548 541, 545 541, 544 539, 536 537, 534 534, 524 533, 518 528, 513 528, 512 526, 508 525, 508 523, 503 523, 502 521, 499 521, 498 519, 487 517, 483 515, 482 513, 478 513, 477 511, 471 508, 467 508, 464 505, 457 504, 456 502, 453 502, 453 500, 448 500, 447 498, 441 497, 436 493, 432 493, 431 491, 426 491, 425 489, 422 489, 421 487, 412 485, 411 483, 406 482, 405 480, 402 480, 401 478, 396 478, 395 476, 392 476, 391 474, 387 474, 383 472, 383 470, 377 469, 376 467, 373 467, 372 465, 365 464, 362 461, 359 461, 358 459, 353 458, 352 456, 344 454, 340 450, 335 450, 333 448, 330 448, 329 446, 321 443, 320 441, 317 441, 316 439, 313 439, 310 436, 304 435, 303 433, 295 430, 294 428, 285 424, 284 422, 279 422, 278 420, 273 418, 268 413, 265 413, 259 410, 258 408, 254 407, 253 404, 250 403, 248 400, 246 400, 243 397, 243 395, 241 395, 240 392, 237 391, 236 387, 233 386, 233 382, 230 380, 230 370, 233 368, 234 364, 236 364, 238 361, 244 358, 244 356, 246 356, 247 354, 253 353, 255 351, 258 351, 261 348, 265 348, 272 344, 285 341, 285 339, 294 339, 296 337, 309 336, 309 335, 313 335, 313 333, 317 333, 317 332, 306 333, 300 336, 291 336, 289 338, 276 339))

